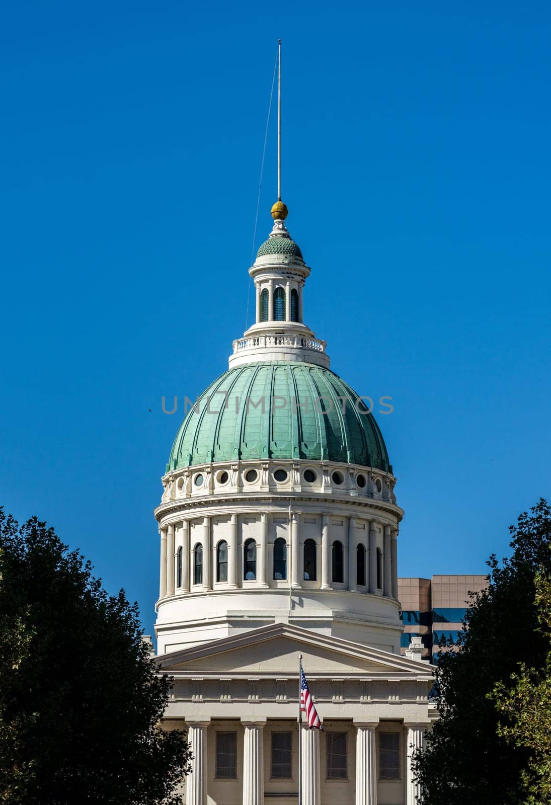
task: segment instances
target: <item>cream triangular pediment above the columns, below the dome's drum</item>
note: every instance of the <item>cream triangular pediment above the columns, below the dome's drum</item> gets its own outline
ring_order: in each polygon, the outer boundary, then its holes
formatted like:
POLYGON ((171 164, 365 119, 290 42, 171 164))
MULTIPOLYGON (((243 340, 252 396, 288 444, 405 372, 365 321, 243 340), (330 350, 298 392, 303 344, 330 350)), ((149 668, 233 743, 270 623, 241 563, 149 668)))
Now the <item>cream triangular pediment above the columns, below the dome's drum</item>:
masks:
POLYGON ((283 623, 163 654, 156 662, 160 671, 175 675, 284 677, 298 673, 299 654, 311 678, 431 675, 426 663, 283 623))

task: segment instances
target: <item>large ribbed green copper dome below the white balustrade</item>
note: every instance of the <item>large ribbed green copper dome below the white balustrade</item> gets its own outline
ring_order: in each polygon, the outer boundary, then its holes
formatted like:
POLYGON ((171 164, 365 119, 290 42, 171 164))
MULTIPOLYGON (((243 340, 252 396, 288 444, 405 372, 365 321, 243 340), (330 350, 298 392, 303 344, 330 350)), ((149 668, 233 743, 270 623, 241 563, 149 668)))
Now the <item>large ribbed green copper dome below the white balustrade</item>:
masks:
POLYGON ((381 431, 361 402, 363 413, 358 412, 357 398, 321 366, 298 361, 237 366, 190 408, 167 472, 247 459, 343 461, 392 472, 381 431), (347 398, 344 413, 339 397, 347 398))

